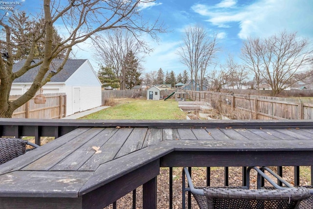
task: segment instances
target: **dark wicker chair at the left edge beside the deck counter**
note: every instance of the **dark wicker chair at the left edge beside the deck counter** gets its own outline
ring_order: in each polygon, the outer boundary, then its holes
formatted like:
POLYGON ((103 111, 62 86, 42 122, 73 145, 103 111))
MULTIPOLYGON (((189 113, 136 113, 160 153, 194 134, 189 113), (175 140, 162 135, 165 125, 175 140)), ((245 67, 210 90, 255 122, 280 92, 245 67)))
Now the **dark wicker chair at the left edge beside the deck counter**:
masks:
POLYGON ((25 154, 26 151, 32 150, 32 149, 26 150, 26 144, 34 148, 39 147, 39 145, 23 139, 0 138, 0 164, 3 164, 20 155, 23 155, 25 154))

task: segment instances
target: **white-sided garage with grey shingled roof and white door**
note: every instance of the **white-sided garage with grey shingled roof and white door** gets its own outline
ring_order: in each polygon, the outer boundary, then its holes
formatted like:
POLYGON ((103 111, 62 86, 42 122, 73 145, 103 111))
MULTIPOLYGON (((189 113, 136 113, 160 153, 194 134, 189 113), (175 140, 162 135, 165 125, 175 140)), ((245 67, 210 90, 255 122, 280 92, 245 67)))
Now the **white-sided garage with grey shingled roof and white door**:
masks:
MULTIPOLYGON (((62 59, 53 60, 50 70, 57 69, 62 62, 62 59)), ((22 60, 14 64, 13 71, 21 69, 24 63, 25 60, 22 60)), ((30 69, 15 79, 10 95, 25 93, 34 81, 39 67, 30 69)), ((43 93, 66 93, 67 116, 101 106, 101 82, 87 59, 67 60, 63 70, 43 86, 43 93)))

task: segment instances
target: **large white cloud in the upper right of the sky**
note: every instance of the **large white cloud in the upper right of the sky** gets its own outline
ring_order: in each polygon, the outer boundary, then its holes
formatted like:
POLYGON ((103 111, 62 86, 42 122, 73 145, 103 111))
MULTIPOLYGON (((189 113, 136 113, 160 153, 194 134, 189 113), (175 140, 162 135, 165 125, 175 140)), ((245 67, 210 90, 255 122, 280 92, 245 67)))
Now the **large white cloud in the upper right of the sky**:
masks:
POLYGON ((208 17, 207 21, 218 27, 227 28, 238 23, 238 37, 241 39, 249 36, 266 37, 284 29, 312 37, 313 1, 258 0, 241 8, 230 8, 235 3, 234 0, 223 0, 213 6, 195 4, 192 9, 208 17), (222 6, 227 8, 219 8, 222 6))

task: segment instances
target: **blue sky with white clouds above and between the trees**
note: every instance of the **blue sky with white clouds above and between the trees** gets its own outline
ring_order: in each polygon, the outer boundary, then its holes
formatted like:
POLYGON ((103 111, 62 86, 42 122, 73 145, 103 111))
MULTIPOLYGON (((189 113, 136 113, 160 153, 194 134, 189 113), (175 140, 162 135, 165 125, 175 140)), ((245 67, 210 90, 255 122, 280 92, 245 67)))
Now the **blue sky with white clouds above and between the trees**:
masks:
MULTIPOLYGON (((42 8, 42 1, 17 1, 26 11, 42 8)), ((145 56, 144 72, 162 68, 178 74, 187 69, 176 52, 184 28, 195 24, 203 26, 208 35, 218 34, 219 63, 224 63, 228 54, 241 62, 240 49, 249 36, 267 37, 286 29, 313 42, 313 0, 156 0, 141 4, 140 9, 145 20, 159 18, 169 31, 158 35, 158 43, 145 37, 155 50, 145 56)), ((73 52, 78 59, 89 59, 94 70, 98 70, 92 48, 87 41, 73 52)))

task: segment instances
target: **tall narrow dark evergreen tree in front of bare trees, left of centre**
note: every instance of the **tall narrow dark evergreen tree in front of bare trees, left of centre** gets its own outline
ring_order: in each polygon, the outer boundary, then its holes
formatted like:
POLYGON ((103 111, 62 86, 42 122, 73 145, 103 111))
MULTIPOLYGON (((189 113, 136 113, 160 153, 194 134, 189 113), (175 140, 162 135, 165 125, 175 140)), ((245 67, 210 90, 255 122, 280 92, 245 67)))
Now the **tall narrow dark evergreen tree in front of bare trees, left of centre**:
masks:
POLYGON ((125 59, 125 87, 132 89, 134 86, 140 85, 140 75, 138 59, 135 58, 134 53, 130 50, 125 59))

